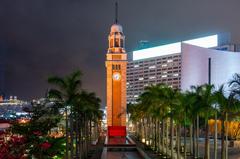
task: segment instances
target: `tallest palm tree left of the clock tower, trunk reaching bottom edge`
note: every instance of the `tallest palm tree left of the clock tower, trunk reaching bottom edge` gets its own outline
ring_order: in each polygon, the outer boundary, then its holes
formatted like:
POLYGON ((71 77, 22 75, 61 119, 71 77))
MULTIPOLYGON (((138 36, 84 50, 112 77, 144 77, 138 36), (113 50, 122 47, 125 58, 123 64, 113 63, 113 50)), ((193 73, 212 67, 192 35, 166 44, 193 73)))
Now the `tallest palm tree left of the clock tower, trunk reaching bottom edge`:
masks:
POLYGON ((54 98, 63 103, 65 107, 65 117, 66 117, 66 158, 68 159, 68 151, 70 144, 70 157, 73 158, 73 114, 72 108, 76 103, 76 97, 80 93, 81 86, 81 72, 75 71, 66 77, 52 76, 48 78, 48 82, 55 86, 54 89, 49 91, 49 98, 54 98), (70 113, 68 109, 70 108, 70 113), (69 115, 70 114, 70 117, 69 115), (69 118, 70 118, 70 138, 69 143, 69 118))

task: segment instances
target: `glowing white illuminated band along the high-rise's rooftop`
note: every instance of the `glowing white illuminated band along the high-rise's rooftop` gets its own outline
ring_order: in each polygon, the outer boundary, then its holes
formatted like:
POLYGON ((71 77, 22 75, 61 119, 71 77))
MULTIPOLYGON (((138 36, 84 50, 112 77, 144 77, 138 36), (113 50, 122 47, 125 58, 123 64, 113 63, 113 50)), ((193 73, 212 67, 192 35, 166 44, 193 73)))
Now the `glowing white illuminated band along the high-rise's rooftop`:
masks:
POLYGON ((218 35, 211 35, 202 38, 133 51, 133 60, 141 60, 151 57, 181 53, 181 43, 187 43, 203 48, 216 47, 218 46, 218 35))

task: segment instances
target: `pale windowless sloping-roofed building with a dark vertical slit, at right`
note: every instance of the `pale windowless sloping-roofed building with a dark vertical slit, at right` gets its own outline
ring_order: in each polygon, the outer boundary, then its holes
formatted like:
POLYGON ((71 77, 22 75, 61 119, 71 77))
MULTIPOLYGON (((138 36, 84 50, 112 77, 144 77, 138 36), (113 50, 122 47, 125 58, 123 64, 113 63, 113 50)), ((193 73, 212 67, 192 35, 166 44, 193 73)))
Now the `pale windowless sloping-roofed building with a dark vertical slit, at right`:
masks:
POLYGON ((209 82, 215 87, 222 84, 227 87, 233 75, 240 73, 240 52, 206 49, 184 43, 181 48, 182 90, 209 82))

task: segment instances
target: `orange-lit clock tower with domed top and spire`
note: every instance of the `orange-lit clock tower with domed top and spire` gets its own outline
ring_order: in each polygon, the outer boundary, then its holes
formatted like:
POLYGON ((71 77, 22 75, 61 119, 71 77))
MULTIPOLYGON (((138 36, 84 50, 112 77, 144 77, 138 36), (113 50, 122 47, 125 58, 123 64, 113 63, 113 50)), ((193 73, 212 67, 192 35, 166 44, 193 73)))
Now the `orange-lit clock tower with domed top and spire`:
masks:
MULTIPOLYGON (((125 36, 117 20, 111 26, 106 54, 107 73, 107 125, 109 127, 126 126, 126 69, 127 54, 124 49, 125 36)), ((126 129, 126 127, 125 127, 126 129)))

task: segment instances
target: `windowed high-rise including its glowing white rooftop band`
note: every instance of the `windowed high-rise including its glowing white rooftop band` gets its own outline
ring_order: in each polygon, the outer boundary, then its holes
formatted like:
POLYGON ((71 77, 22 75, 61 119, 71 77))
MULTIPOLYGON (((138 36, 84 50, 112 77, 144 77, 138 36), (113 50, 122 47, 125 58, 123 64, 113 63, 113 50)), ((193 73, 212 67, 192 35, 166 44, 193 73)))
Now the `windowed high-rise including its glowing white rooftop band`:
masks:
POLYGON ((181 88, 182 43, 202 48, 238 51, 239 47, 230 45, 228 38, 212 35, 133 51, 133 60, 127 65, 127 103, 136 103, 146 86, 165 83, 175 89, 181 88))

